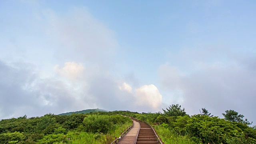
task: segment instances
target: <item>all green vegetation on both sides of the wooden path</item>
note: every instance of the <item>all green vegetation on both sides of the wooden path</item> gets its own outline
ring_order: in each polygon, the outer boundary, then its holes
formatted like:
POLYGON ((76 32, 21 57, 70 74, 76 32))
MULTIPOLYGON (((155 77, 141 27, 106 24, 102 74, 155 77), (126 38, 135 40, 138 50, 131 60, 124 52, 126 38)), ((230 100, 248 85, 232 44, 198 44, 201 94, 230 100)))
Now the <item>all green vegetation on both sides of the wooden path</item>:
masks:
POLYGON ((109 144, 132 124, 128 116, 152 124, 165 144, 256 144, 256 127, 249 127, 242 115, 234 113, 238 118, 233 122, 202 111, 188 116, 176 104, 164 114, 113 111, 32 118, 25 115, 0 120, 0 144, 109 144))

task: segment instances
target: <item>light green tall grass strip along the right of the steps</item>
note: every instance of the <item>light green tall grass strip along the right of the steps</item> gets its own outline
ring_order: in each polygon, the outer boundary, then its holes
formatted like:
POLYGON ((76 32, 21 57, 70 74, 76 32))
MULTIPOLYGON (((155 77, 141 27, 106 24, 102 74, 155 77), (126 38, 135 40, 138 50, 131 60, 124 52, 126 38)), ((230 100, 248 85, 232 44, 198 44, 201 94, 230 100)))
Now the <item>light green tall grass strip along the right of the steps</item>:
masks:
POLYGON ((198 144, 198 142, 190 140, 189 136, 178 135, 170 128, 164 128, 161 125, 153 127, 160 138, 162 138, 162 142, 165 144, 198 144))

